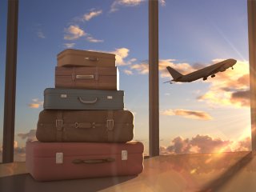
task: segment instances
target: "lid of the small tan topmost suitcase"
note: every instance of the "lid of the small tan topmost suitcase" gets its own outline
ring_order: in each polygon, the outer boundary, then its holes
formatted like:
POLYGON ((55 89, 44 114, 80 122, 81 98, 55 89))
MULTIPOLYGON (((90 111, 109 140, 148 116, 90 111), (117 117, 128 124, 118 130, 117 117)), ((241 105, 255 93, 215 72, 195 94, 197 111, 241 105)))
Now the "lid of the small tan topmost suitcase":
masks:
POLYGON ((115 54, 103 53, 103 52, 92 51, 92 50, 74 50, 74 49, 62 50, 62 52, 57 54, 57 59, 64 57, 66 54, 77 54, 77 55, 88 56, 88 57, 110 58, 115 60, 115 54))

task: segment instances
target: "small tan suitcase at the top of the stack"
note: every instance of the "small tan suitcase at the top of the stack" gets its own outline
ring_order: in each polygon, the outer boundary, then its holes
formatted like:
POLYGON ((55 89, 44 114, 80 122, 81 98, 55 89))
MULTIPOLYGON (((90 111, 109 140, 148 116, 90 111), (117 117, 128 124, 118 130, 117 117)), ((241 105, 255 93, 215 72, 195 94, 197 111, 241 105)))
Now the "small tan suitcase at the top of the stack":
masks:
POLYGON ((115 66, 115 55, 89 50, 63 50, 57 55, 58 66, 115 66))

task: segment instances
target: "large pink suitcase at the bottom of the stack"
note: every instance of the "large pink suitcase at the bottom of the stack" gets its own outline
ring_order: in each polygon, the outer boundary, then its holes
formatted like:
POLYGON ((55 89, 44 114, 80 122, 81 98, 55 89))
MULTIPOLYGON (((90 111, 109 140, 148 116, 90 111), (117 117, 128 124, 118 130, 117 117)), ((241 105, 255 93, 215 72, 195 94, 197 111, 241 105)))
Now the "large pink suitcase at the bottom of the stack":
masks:
POLYGON ((136 175, 142 142, 27 142, 26 169, 37 181, 136 175))

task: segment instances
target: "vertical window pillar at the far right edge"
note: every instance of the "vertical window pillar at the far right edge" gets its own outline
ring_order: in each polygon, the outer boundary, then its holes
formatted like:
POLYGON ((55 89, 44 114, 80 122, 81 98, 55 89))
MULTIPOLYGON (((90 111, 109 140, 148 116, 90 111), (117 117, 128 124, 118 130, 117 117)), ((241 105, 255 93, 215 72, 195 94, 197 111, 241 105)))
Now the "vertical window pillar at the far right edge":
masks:
POLYGON ((256 0, 247 1, 250 62, 250 114, 252 150, 256 150, 256 0))

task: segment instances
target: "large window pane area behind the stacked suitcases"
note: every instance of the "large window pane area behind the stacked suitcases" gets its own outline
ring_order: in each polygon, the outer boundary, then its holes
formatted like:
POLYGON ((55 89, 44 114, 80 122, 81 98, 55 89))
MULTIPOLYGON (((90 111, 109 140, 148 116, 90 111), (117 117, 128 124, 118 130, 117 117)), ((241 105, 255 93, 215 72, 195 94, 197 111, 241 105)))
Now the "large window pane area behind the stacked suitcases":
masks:
POLYGON ((66 48, 116 54, 134 139, 148 143, 146 2, 25 0, 19 6, 14 160, 24 161, 26 141, 35 139, 43 90, 54 87, 57 54, 66 48))

